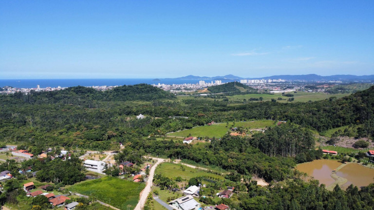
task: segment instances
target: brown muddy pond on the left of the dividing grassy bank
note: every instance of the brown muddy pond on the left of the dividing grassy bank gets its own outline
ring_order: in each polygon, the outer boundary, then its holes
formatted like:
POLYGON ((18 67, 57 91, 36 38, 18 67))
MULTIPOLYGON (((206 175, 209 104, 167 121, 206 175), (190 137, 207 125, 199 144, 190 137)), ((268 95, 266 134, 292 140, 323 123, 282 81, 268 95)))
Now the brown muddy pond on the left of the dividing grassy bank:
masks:
POLYGON ((320 184, 329 186, 335 182, 331 177, 331 173, 339 165, 341 165, 341 163, 337 160, 319 159, 313 160, 312 162, 301 163, 296 169, 300 172, 307 173, 309 176, 313 176, 315 179, 319 180, 320 184))

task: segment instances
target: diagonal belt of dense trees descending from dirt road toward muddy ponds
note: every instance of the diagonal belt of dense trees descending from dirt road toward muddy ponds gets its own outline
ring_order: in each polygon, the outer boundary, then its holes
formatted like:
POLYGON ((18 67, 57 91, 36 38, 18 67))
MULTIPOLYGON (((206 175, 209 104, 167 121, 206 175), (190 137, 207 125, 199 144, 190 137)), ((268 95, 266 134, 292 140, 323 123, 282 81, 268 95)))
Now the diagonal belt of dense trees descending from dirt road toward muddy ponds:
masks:
POLYGON ((258 175, 268 181, 280 181, 294 176, 292 171, 292 167, 296 164, 294 158, 267 156, 260 149, 251 146, 251 141, 250 138, 227 135, 221 140, 213 139, 205 147, 192 147, 175 143, 173 140, 152 140, 152 138, 130 139, 129 145, 135 150, 144 150, 149 154, 185 158, 204 165, 234 170, 243 175, 258 175))

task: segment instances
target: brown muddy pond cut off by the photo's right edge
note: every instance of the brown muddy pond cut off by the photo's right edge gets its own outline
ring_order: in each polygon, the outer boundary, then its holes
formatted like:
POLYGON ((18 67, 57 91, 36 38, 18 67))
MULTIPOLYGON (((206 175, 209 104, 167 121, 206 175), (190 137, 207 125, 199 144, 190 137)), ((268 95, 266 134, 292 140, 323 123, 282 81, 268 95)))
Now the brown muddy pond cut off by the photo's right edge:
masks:
POLYGON ((356 163, 347 164, 337 171, 337 175, 348 180, 342 186, 343 189, 346 189, 351 184, 363 187, 374 183, 374 169, 366 168, 356 163))

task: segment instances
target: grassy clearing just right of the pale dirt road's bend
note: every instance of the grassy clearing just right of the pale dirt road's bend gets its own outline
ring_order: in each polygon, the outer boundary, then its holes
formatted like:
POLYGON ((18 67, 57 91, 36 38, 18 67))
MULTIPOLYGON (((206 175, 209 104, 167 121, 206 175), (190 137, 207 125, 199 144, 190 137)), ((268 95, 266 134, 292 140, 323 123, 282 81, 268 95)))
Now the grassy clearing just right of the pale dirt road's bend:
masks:
POLYGON ((175 179, 175 177, 180 176, 182 179, 186 179, 187 182, 190 178, 196 176, 212 176, 215 178, 224 179, 224 177, 221 175, 215 175, 204 170, 193 169, 187 166, 183 166, 183 170, 181 166, 182 165, 180 164, 164 162, 156 168, 156 173, 165 175, 171 179, 175 179))

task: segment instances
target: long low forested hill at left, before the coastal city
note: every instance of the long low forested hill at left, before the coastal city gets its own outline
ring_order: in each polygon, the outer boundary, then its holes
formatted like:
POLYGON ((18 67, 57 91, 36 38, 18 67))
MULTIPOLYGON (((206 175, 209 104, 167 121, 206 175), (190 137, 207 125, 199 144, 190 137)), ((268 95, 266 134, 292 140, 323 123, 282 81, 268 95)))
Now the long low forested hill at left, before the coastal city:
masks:
POLYGON ((28 95, 18 92, 14 94, 14 97, 29 104, 62 103, 73 105, 85 104, 92 101, 153 101, 155 99, 175 98, 172 93, 147 84, 124 85, 107 91, 77 86, 57 91, 31 91, 28 95))

